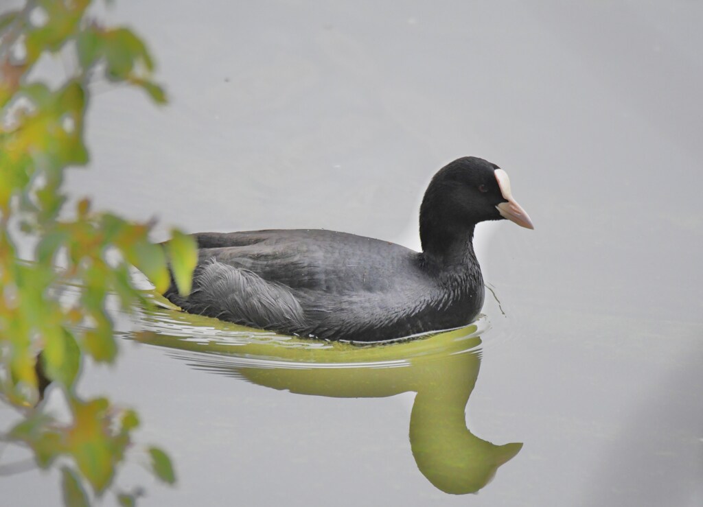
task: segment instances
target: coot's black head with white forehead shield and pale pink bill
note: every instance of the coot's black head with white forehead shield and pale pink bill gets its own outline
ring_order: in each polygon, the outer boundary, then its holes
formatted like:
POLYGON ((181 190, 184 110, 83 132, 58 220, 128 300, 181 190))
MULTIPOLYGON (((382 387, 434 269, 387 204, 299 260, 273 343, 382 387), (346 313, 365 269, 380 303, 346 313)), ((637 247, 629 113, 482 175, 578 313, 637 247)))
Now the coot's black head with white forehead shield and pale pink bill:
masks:
POLYGON ((510 180, 503 169, 477 157, 463 157, 434 175, 420 207, 420 239, 451 242, 452 237, 472 234, 484 220, 506 218, 534 228, 527 213, 512 198, 510 180))

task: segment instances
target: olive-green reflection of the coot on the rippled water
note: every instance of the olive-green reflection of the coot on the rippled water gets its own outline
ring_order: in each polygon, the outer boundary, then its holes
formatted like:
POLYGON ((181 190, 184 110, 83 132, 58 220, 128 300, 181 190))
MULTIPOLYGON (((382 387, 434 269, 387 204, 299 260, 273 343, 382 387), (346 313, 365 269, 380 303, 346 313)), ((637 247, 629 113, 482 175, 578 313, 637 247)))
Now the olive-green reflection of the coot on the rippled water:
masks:
POLYGON ((303 340, 173 310, 153 310, 138 341, 187 350, 188 362, 291 393, 387 397, 415 392, 410 442, 420 472, 446 493, 484 487, 522 443, 494 445, 471 433, 465 408, 475 386, 481 338, 475 325, 389 345, 303 340))

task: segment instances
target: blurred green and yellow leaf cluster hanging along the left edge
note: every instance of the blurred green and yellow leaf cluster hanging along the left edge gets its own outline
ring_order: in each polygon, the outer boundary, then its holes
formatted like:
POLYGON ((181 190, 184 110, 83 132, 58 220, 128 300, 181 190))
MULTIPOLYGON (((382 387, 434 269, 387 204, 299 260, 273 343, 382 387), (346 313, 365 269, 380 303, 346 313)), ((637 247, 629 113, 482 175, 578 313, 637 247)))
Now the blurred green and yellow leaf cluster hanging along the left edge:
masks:
MULTIPOLYGON (((131 265, 160 291, 173 276, 186 294, 197 251, 178 230, 166 248, 155 245, 153 224, 93 211, 87 198, 67 209, 65 170, 89 161, 84 119, 94 75, 166 101, 143 41, 125 27, 102 26, 89 16, 90 4, 30 0, 0 13, 0 400, 22 415, 2 436, 32 449, 40 468, 60 466, 67 505, 89 505, 111 489, 121 505, 134 505, 138 493, 113 486, 134 446, 138 415, 104 397, 79 396, 81 364, 86 355, 108 363, 117 357, 108 296, 128 311, 148 304, 131 280, 131 265), (52 89, 29 81, 42 55, 71 52, 78 65, 63 84, 52 89), (18 244, 27 238, 34 249, 20 258, 18 244), (67 400, 70 423, 44 411, 48 383, 67 400)), ((150 470, 172 484, 167 454, 156 447, 146 452, 150 470)))

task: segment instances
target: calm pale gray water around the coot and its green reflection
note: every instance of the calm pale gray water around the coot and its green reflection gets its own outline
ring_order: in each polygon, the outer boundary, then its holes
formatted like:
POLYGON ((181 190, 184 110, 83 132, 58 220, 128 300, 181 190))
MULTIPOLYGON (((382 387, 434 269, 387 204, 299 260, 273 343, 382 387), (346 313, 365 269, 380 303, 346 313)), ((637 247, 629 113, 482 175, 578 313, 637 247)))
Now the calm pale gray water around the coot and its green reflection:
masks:
MULTIPOLYGON (((169 343, 126 331, 82 384, 172 453, 178 485, 146 480, 143 505, 703 504, 703 4, 121 1, 108 18, 146 36, 172 102, 96 83, 91 170, 68 186, 156 216, 155 240, 326 228, 416 248, 427 182, 467 154, 508 172, 536 225, 477 231, 501 304, 467 352, 465 422, 523 444, 479 494, 421 470, 417 386, 290 393, 252 373, 276 345, 247 364, 183 350, 217 331, 162 315, 121 326, 167 323, 169 343)), ((0 479, 3 503, 54 505, 58 482, 0 479)))

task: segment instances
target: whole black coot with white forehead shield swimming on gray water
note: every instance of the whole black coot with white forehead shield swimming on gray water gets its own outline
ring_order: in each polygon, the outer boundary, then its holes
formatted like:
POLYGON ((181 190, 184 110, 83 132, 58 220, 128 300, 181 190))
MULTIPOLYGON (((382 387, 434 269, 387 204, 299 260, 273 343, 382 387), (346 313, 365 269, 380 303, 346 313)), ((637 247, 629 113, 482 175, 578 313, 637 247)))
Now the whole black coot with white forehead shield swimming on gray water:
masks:
POLYGON ((283 334, 381 341, 469 324, 484 282, 475 225, 507 218, 532 228, 508 175, 476 157, 442 168, 420 206, 418 253, 330 230, 201 232, 183 310, 283 334))

